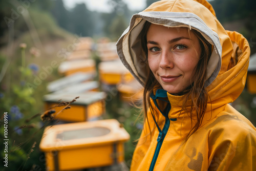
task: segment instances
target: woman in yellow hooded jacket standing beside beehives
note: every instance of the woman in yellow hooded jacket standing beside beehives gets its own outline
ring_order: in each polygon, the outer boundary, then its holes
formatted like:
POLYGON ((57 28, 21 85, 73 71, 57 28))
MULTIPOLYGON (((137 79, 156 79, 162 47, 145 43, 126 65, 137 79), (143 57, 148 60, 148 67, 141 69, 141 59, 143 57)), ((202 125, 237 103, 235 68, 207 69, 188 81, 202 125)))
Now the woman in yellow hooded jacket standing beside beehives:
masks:
POLYGON ((144 127, 131 170, 256 170, 256 129, 229 104, 244 89, 250 49, 204 0, 135 14, 117 42, 144 86, 144 127))

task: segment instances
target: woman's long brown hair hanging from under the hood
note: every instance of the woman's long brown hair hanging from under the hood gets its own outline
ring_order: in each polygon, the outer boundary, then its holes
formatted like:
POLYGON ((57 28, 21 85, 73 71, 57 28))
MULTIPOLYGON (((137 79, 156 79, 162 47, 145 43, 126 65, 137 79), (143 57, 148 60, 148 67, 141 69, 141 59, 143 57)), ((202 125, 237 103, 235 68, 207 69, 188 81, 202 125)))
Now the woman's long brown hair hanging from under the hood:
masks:
MULTIPOLYGON (((147 22, 144 24, 144 27, 141 31, 141 46, 144 55, 147 57, 147 39, 146 39, 146 34, 148 28, 150 28, 151 23, 147 22)), ((188 30, 189 31, 189 30, 188 30)), ((200 127, 204 114, 206 112, 206 107, 207 107, 207 100, 208 100, 208 95, 206 92, 206 87, 205 87, 205 81, 206 81, 206 67, 208 60, 211 55, 211 49, 212 46, 211 44, 202 36, 201 33, 198 31, 192 29, 191 30, 198 38, 199 38, 199 43, 201 47, 201 55, 199 58, 199 61, 197 63, 197 66, 193 72, 194 79, 193 83, 183 92, 181 92, 183 96, 183 106, 181 111, 186 111, 188 116, 190 117, 190 121, 195 119, 192 117, 193 111, 196 112, 196 124, 191 127, 190 132, 186 135, 184 141, 186 141, 192 134, 194 134, 200 127), (185 103, 188 101, 188 99, 191 100, 191 103, 189 106, 186 106, 185 103)), ((153 105, 150 100, 150 95, 151 93, 156 90, 162 88, 158 81, 156 80, 154 74, 150 70, 150 73, 148 74, 148 77, 145 81, 145 86, 144 86, 144 93, 143 93, 143 111, 144 111, 144 122, 147 120, 147 110, 152 112, 153 116, 158 119, 158 116, 155 115, 156 111, 153 108, 153 105)), ((147 120, 148 122, 148 120, 147 120)), ((152 132, 150 128, 150 124, 147 123, 149 126, 150 132, 152 132)), ((155 129, 155 127, 154 127, 155 129)), ((151 135, 151 133, 150 133, 151 135)))

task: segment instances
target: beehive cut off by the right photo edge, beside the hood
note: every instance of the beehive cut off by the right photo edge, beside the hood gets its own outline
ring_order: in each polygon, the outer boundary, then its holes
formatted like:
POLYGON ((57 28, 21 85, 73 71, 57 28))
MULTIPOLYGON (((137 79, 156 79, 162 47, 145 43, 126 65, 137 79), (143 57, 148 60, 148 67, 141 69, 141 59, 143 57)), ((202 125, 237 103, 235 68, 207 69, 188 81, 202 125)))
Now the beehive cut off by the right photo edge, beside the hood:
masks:
POLYGON ((256 54, 250 57, 246 84, 248 91, 256 94, 256 54))

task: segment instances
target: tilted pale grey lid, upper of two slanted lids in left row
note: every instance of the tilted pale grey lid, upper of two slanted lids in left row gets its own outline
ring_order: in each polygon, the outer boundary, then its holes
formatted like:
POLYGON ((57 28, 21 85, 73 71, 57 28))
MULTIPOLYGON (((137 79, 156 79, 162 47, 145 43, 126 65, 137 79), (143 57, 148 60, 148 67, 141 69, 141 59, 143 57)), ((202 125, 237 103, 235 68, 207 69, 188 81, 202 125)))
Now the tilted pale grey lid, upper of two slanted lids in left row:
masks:
POLYGON ((54 92, 57 90, 61 90, 64 87, 77 84, 82 81, 90 80, 93 77, 94 77, 94 74, 92 73, 77 72, 75 74, 71 74, 69 76, 65 76, 50 82, 47 86, 47 90, 49 92, 54 92))

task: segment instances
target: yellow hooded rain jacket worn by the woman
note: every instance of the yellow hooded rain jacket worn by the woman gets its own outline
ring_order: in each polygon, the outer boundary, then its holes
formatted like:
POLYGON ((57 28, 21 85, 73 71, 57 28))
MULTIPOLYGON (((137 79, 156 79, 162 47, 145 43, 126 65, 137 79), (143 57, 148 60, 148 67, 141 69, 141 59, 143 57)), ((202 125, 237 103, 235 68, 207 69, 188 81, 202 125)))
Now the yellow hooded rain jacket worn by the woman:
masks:
MULTIPOLYGON (((200 128, 184 143, 191 130, 190 117, 182 111, 182 96, 157 91, 168 97, 169 112, 149 112, 133 154, 131 170, 256 170, 256 129, 229 104, 244 89, 250 49, 237 32, 225 30, 214 9, 204 0, 158 1, 133 15, 117 42, 124 66, 144 85, 149 68, 141 50, 141 29, 148 22, 199 31, 214 47, 207 66, 207 111, 200 128), (154 121, 156 120, 156 121, 154 121), (157 124, 156 124, 157 122, 157 124)), ((178 28, 177 28, 178 29, 178 28)), ((158 107, 158 106, 157 106, 158 107)))

